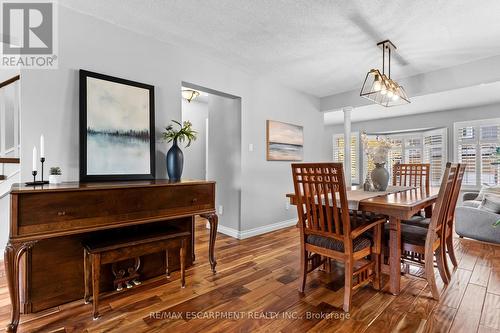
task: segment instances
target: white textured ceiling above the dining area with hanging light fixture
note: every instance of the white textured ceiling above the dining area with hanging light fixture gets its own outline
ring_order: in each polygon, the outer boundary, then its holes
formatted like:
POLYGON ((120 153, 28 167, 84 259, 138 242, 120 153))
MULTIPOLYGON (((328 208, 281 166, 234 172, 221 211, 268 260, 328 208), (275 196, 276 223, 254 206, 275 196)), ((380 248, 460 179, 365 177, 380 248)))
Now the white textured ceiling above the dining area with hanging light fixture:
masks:
POLYGON ((66 7, 323 97, 361 87, 391 39, 407 77, 500 54, 498 0, 64 0, 66 7))

